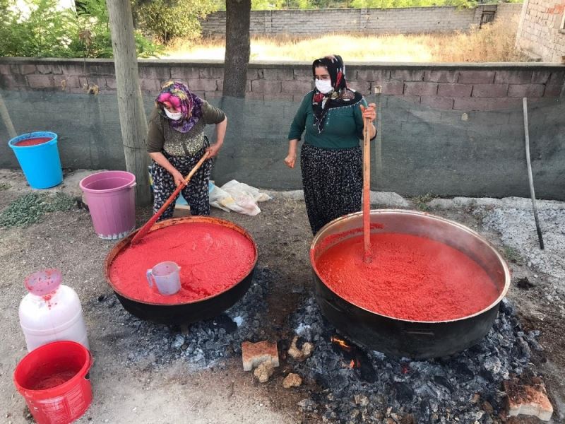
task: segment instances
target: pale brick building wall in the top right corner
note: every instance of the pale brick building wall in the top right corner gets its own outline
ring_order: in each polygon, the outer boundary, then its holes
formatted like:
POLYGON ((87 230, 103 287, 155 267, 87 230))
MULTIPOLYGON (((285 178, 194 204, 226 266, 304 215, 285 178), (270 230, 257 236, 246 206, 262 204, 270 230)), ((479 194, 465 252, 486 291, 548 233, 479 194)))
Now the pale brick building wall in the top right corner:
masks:
POLYGON ((565 57, 565 0, 525 0, 516 45, 541 61, 565 57))

